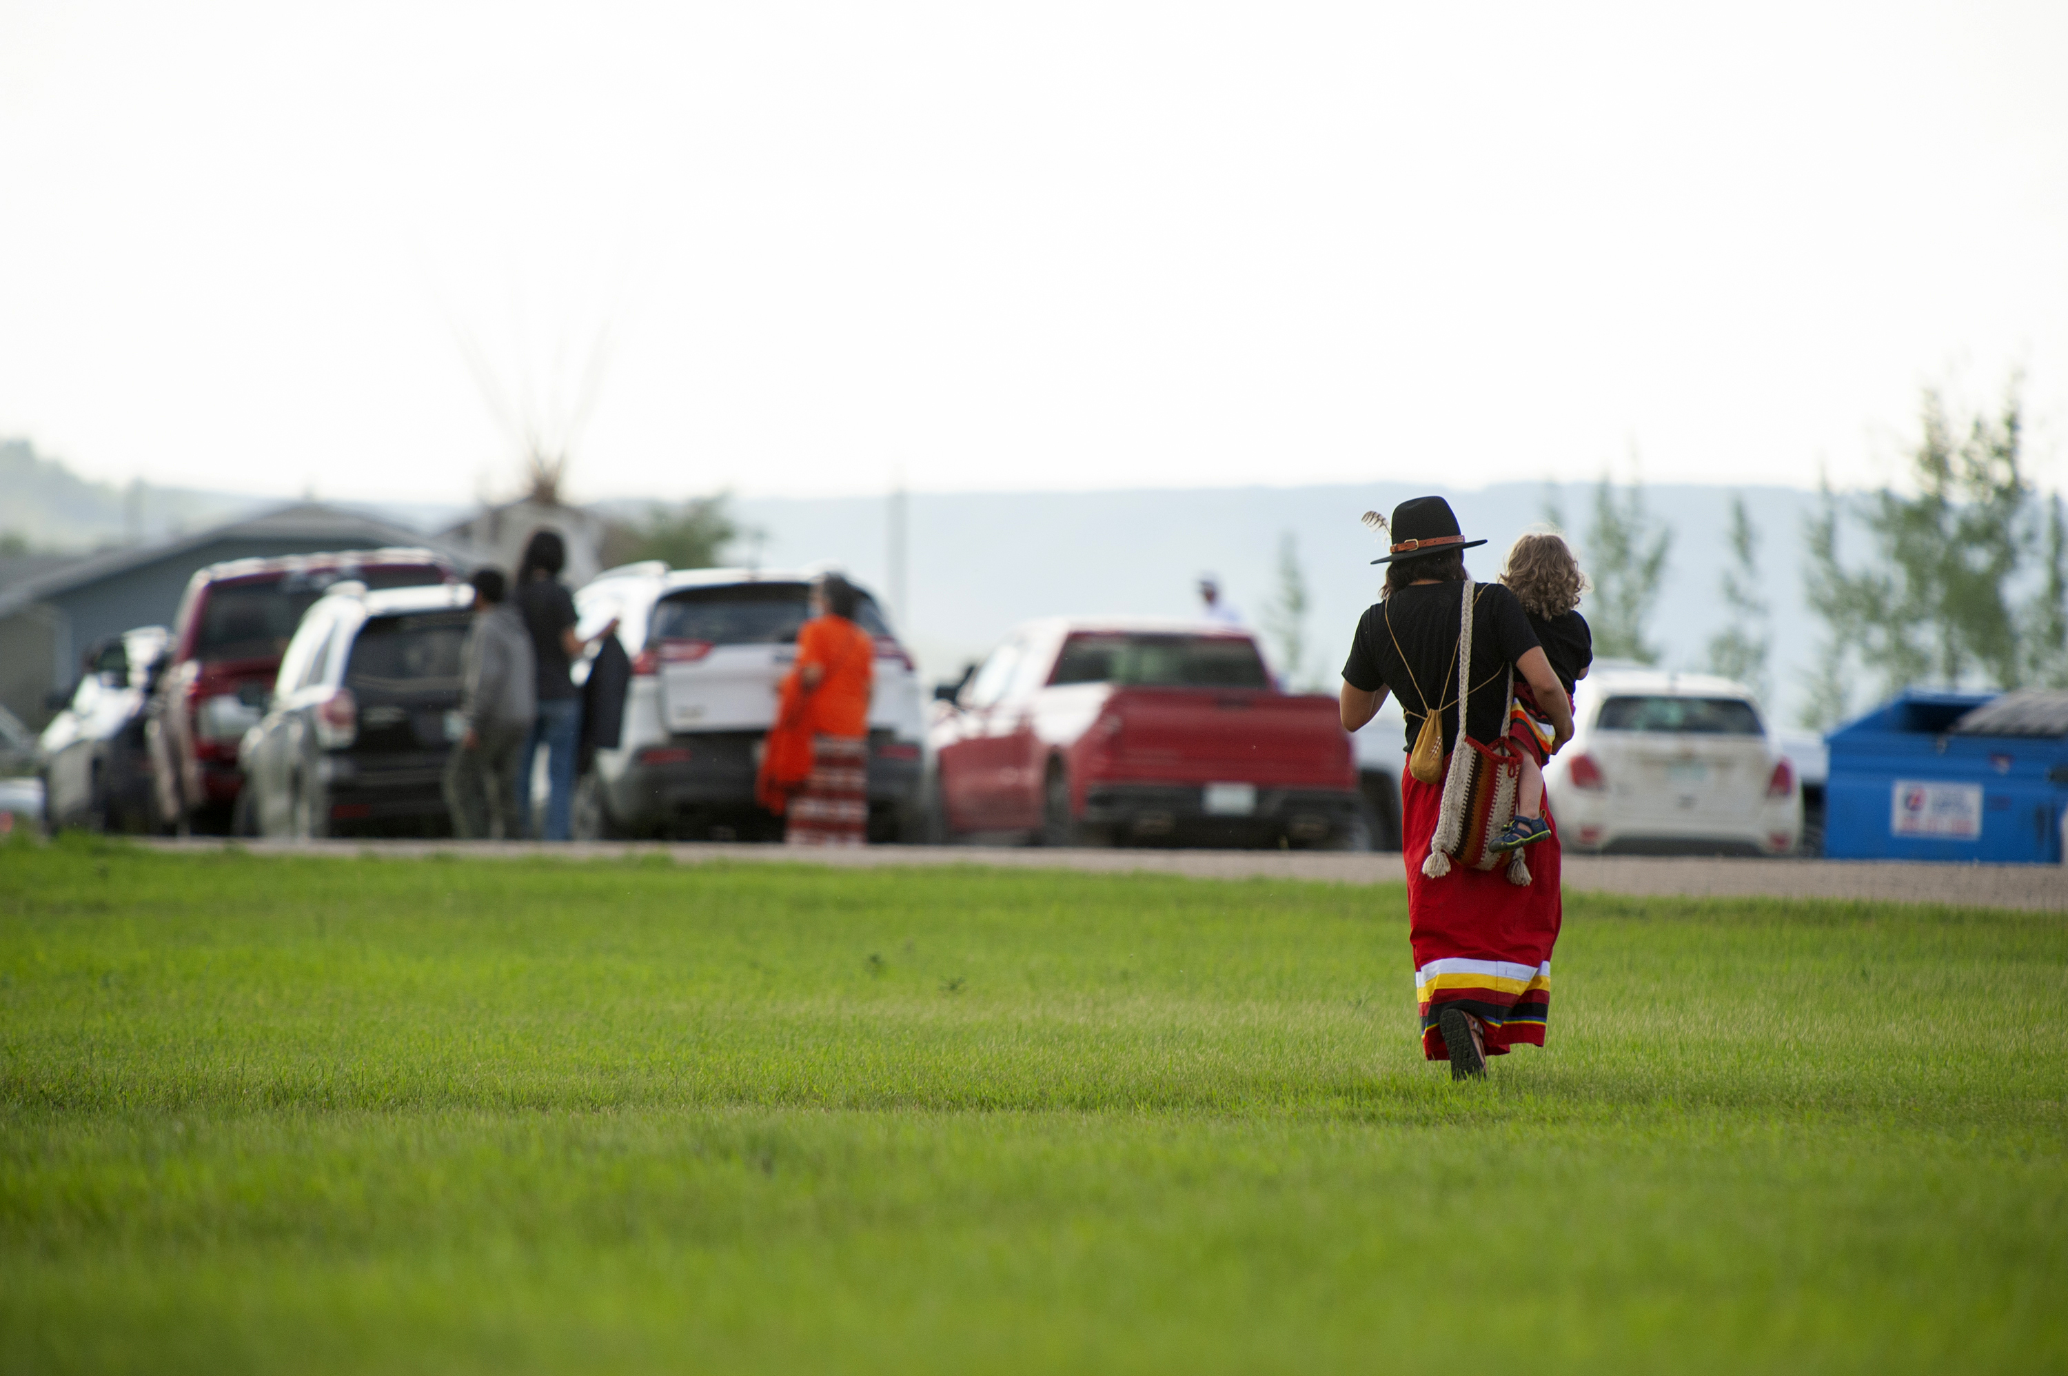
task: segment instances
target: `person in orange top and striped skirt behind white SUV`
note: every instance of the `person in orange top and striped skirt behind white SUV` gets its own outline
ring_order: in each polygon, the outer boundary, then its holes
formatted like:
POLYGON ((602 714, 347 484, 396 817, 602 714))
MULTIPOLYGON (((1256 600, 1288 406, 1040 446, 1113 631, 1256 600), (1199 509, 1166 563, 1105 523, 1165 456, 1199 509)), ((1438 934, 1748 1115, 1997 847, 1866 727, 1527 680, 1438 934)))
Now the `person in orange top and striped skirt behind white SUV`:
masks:
POLYGON ((755 797, 792 846, 869 840, 869 693, 877 644, 854 623, 860 596, 838 573, 811 590, 796 662, 778 687, 755 797))

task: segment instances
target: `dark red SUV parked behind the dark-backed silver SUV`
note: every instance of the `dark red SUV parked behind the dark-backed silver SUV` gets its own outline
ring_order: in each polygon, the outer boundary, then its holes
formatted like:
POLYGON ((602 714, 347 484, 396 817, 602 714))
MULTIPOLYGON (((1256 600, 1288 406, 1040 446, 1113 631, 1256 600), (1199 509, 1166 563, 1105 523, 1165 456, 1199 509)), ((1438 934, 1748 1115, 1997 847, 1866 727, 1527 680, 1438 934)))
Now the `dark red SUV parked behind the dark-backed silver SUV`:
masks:
POLYGON ((432 550, 385 548, 234 559, 188 579, 145 728, 161 826, 232 830, 244 784, 238 743, 265 714, 302 612, 345 581, 453 584, 459 567, 432 550))

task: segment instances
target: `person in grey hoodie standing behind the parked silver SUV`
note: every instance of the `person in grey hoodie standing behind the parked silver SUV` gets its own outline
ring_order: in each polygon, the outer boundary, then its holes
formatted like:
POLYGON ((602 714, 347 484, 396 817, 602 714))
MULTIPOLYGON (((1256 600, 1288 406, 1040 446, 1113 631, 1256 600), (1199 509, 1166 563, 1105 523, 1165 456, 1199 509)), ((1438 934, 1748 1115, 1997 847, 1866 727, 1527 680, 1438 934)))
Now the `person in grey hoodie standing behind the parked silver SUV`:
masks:
POLYGON ((517 840, 523 743, 538 716, 531 633, 509 604, 500 569, 478 569, 474 625, 461 652, 463 735, 445 766, 445 805, 459 840, 517 840))

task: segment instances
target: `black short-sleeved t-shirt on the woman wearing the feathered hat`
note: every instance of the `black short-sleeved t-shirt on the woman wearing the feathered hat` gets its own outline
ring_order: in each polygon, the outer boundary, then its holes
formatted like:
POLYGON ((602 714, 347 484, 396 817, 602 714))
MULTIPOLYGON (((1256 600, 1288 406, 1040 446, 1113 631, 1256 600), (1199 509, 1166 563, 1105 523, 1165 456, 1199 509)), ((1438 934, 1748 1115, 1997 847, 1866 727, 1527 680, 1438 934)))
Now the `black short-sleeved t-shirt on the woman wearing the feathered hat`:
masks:
MULTIPOLYGON (((1446 708, 1437 718, 1443 749, 1450 751, 1458 739, 1462 592, 1464 584, 1410 584, 1365 608, 1357 623, 1342 681, 1367 693, 1392 689, 1408 718, 1406 749, 1415 749, 1415 732, 1421 730, 1427 708, 1446 708)), ((1466 704, 1466 728, 1474 741, 1495 741, 1508 714, 1503 670, 1537 648, 1537 635, 1516 594, 1499 584, 1474 584, 1472 592, 1472 697, 1466 704)))

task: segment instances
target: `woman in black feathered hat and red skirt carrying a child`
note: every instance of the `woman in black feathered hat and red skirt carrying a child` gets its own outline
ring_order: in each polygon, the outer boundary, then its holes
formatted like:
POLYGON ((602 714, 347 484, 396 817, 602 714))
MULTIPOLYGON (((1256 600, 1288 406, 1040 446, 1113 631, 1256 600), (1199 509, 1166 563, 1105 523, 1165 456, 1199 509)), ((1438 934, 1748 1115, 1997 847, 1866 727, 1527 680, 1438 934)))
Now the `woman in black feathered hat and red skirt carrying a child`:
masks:
POLYGON ((1489 1055, 1545 1041, 1561 919, 1551 809, 1526 863, 1495 842, 1520 780, 1520 747, 1506 735, 1516 675, 1553 724, 1553 751, 1572 739, 1572 704, 1516 594, 1470 581, 1464 550, 1485 540, 1460 534, 1450 503, 1417 497, 1390 524, 1365 521, 1390 530, 1386 559, 1373 561, 1386 588, 1342 666, 1342 726, 1369 722, 1388 693, 1406 716, 1400 848, 1423 1055, 1464 1080, 1485 1074, 1489 1055))

